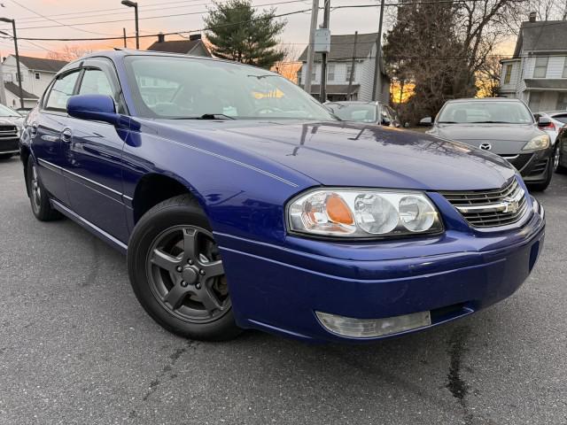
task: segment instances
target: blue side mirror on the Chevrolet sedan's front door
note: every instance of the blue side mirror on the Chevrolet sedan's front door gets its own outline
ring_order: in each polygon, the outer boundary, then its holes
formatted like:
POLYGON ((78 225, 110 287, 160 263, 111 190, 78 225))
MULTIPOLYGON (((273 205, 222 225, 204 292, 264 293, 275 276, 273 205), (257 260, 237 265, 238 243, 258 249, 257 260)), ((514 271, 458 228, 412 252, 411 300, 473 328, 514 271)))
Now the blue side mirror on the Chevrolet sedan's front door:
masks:
POLYGON ((103 121, 113 124, 113 126, 120 123, 120 114, 116 113, 113 98, 105 95, 69 97, 67 113, 80 120, 103 121))

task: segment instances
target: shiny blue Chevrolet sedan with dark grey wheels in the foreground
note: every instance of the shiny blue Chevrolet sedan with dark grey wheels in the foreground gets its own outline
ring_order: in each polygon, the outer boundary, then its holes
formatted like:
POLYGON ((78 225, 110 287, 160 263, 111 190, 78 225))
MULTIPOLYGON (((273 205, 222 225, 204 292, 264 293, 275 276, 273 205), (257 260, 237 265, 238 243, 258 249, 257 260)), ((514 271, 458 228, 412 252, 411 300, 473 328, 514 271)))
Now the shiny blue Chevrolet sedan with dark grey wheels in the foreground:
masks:
POLYGON ((35 217, 127 254, 145 310, 190 338, 430 328, 509 297, 543 246, 543 208, 506 160, 337 120, 276 73, 212 58, 74 61, 21 151, 35 217))

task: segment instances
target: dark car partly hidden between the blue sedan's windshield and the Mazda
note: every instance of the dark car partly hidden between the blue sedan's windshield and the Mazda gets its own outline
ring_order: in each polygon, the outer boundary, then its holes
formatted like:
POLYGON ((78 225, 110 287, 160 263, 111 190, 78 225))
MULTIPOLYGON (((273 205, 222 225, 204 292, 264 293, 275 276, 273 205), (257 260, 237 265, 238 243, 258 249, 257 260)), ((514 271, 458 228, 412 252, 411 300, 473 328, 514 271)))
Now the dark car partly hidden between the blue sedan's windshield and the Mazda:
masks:
POLYGON ((341 120, 400 127, 398 114, 379 102, 325 102, 324 105, 341 120))

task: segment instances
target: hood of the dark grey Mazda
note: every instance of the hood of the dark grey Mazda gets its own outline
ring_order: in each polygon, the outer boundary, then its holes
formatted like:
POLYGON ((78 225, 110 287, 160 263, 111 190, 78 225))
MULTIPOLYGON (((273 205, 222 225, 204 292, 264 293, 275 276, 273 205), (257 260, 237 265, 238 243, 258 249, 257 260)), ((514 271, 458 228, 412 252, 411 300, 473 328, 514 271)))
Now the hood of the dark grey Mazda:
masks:
POLYGON ((515 155, 532 137, 544 133, 533 125, 522 124, 440 124, 430 134, 475 147, 489 144, 493 153, 515 155))

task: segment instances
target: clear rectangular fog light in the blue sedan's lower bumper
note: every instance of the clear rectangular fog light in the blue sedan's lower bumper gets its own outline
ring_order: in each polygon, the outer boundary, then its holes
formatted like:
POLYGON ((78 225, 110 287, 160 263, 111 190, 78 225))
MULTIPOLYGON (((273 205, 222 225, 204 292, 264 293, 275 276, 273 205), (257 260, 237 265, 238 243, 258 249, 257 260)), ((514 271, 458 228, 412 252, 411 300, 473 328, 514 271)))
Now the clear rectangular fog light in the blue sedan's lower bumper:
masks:
POLYGON ((383 319, 354 319, 337 314, 315 312, 324 328, 340 336, 371 338, 397 334, 431 325, 429 312, 404 314, 383 319))

